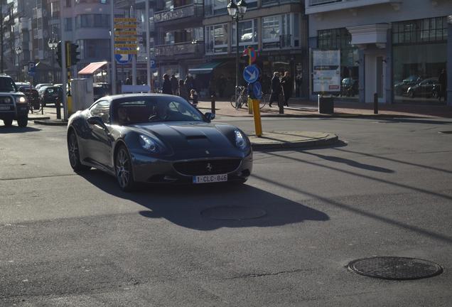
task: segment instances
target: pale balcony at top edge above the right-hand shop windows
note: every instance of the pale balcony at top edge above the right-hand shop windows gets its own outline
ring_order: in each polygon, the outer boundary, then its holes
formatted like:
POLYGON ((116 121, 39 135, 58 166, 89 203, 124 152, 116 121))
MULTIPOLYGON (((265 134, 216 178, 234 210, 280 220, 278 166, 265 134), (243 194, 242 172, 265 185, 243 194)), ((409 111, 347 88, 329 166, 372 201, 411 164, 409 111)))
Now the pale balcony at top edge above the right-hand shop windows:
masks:
POLYGON ((396 9, 403 0, 306 0, 306 14, 319 14, 343 9, 355 9, 375 4, 391 4, 396 9))

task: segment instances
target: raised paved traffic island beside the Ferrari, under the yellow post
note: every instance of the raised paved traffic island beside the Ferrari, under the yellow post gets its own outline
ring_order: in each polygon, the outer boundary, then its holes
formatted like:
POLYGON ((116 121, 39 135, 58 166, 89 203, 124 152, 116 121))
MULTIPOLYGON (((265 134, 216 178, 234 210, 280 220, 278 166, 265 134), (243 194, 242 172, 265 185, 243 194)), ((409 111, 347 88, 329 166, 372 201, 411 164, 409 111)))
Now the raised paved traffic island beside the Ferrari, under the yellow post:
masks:
POLYGON ((261 137, 248 137, 254 150, 327 146, 339 141, 336 134, 313 131, 269 131, 264 132, 261 137))

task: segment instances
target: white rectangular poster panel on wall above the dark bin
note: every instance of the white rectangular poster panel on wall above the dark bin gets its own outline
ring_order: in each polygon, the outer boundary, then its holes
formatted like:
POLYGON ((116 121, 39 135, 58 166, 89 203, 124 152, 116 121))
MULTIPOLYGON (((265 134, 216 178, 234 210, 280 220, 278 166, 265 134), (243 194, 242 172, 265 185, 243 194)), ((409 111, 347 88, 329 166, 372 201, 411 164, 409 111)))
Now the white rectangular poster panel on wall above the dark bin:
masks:
POLYGON ((313 50, 313 92, 340 92, 340 50, 313 50))

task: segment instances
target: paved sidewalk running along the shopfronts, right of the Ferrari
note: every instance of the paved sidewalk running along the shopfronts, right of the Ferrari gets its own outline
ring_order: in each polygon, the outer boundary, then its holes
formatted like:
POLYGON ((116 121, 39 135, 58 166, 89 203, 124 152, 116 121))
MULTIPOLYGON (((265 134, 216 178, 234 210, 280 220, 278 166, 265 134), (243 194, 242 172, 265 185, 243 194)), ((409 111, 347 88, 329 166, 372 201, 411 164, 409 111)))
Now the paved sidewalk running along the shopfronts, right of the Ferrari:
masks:
MULTIPOLYGON (((378 114, 374 114, 373 104, 359 102, 334 102, 334 114, 319 114, 317 102, 291 98, 289 107, 284 107, 284 114, 279 114, 278 107, 266 105, 261 109, 262 117, 429 117, 452 118, 452 107, 443 105, 420 104, 379 104, 378 114)), ((210 112, 210 101, 198 104, 201 112, 210 112)), ((235 109, 230 102, 217 101, 215 104, 217 116, 252 117, 247 109, 235 109)))

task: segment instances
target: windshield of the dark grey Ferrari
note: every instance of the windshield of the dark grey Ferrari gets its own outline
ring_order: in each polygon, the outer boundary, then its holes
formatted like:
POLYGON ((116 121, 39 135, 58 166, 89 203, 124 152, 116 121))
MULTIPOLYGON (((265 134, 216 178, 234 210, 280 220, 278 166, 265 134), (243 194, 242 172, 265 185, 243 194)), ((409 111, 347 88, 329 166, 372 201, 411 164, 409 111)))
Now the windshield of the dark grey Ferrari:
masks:
POLYGON ((113 104, 114 122, 121 125, 145 122, 202 122, 203 116, 191 104, 176 96, 136 96, 113 104))

